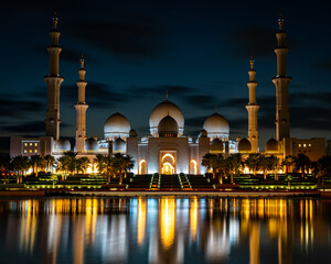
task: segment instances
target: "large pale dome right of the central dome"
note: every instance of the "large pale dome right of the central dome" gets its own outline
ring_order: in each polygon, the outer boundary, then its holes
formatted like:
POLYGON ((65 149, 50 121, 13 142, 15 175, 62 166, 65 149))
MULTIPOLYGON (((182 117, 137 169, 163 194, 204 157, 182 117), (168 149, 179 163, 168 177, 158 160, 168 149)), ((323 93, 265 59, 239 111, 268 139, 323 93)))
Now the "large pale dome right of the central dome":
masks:
POLYGON ((203 123, 203 129, 210 138, 225 136, 228 138, 229 127, 227 120, 220 113, 213 113, 207 117, 203 123))

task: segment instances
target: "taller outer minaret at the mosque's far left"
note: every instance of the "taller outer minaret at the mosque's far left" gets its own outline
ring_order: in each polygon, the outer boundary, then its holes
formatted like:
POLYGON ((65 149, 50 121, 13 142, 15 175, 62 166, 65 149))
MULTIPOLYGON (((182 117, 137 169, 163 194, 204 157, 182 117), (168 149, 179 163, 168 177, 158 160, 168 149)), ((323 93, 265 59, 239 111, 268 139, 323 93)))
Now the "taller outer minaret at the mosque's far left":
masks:
POLYGON ((57 22, 58 19, 54 12, 53 29, 50 32, 51 45, 47 47, 50 74, 44 77, 47 84, 46 135, 53 136, 56 141, 60 139, 60 86, 63 81, 63 77, 58 75, 58 58, 62 48, 58 46, 57 22))

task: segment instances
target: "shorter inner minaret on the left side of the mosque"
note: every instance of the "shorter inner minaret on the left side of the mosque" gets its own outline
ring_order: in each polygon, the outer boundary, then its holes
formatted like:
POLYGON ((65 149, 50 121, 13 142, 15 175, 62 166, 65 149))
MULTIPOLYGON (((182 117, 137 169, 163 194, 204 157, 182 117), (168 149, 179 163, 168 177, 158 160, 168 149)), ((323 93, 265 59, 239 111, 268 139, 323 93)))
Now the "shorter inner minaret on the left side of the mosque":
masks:
POLYGON ((81 58, 81 68, 78 69, 79 80, 78 86, 78 101, 75 103, 76 108, 76 152, 84 152, 84 144, 86 139, 86 110, 88 105, 85 102, 85 81, 86 69, 84 68, 84 58, 81 58))

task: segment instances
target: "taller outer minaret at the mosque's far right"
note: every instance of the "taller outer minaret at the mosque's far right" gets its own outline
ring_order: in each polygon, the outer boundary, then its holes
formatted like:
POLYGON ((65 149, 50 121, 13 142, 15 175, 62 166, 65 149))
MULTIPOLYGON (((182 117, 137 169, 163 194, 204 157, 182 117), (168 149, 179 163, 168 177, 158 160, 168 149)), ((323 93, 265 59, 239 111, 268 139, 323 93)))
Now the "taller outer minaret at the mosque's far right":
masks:
POLYGON ((286 55, 288 47, 285 45, 286 32, 282 31, 284 19, 278 19, 279 31, 276 33, 278 45, 275 48, 277 55, 277 76, 273 82, 276 86, 276 140, 281 141, 290 136, 290 118, 288 110, 288 86, 291 78, 286 74, 286 55))

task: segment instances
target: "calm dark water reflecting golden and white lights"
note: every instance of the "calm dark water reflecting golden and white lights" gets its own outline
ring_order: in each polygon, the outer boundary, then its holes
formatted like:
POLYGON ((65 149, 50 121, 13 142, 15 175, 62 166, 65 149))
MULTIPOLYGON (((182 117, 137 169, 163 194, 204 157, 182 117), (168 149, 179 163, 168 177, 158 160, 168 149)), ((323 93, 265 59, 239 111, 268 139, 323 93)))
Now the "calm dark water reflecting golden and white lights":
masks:
POLYGON ((0 200, 0 263, 331 263, 331 200, 0 200))

